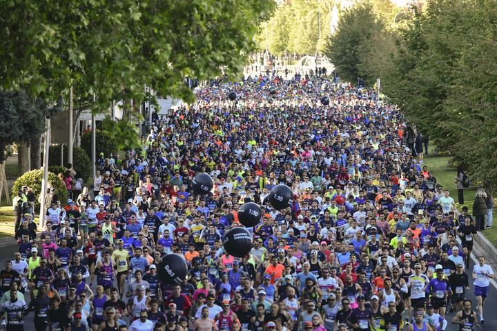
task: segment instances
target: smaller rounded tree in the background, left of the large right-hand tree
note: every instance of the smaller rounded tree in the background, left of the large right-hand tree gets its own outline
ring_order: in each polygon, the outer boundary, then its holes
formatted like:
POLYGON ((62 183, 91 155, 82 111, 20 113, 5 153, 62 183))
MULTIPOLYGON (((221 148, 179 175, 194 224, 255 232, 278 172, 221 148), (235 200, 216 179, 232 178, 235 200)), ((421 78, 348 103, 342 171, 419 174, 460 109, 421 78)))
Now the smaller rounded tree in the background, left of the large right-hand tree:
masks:
POLYGON ((368 66, 370 48, 385 36, 384 30, 384 23, 371 3, 358 3, 345 10, 337 32, 328 39, 326 50, 340 77, 347 81, 363 77, 369 83, 376 79, 368 66))

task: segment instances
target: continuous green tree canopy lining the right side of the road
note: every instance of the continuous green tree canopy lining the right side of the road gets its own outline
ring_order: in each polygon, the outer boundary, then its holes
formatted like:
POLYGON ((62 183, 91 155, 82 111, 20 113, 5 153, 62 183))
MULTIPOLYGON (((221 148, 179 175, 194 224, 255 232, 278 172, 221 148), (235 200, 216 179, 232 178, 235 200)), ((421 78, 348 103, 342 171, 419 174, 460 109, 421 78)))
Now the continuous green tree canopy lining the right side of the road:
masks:
POLYGON ((476 181, 497 184, 497 8, 429 0, 397 31, 362 3, 344 13, 328 52, 340 77, 382 91, 476 181), (387 28, 385 28, 387 27, 387 28))

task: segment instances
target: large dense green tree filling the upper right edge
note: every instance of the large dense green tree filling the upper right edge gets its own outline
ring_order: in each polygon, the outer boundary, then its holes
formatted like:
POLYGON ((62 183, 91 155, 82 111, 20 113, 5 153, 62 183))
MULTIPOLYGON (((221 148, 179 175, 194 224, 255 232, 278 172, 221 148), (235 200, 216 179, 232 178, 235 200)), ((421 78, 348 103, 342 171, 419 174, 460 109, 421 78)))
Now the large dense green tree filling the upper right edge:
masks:
POLYGON ((402 31, 383 84, 418 130, 494 190, 496 21, 494 1, 428 1, 402 31))

